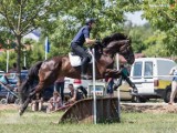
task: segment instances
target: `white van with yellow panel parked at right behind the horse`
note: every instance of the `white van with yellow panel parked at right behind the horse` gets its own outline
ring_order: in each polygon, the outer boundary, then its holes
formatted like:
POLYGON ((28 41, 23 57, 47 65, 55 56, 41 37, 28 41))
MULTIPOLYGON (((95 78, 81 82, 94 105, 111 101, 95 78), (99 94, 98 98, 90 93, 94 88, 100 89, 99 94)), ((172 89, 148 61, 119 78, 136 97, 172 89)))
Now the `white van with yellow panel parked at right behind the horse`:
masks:
POLYGON ((165 88, 170 84, 169 71, 176 63, 164 58, 135 59, 131 69, 131 80, 137 88, 135 95, 138 102, 146 102, 150 98, 163 98, 165 88), (162 75, 162 76, 160 76, 162 75))

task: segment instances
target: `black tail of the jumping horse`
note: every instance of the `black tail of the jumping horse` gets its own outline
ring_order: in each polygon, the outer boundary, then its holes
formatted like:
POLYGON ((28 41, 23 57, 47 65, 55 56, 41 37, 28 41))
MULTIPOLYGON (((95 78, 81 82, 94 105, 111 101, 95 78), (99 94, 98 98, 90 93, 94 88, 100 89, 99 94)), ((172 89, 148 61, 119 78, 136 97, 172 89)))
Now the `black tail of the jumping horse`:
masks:
POLYGON ((19 88, 21 103, 23 103, 27 100, 29 93, 33 91, 33 86, 39 82, 38 73, 42 63, 43 61, 39 61, 30 68, 27 79, 22 82, 21 86, 19 88))

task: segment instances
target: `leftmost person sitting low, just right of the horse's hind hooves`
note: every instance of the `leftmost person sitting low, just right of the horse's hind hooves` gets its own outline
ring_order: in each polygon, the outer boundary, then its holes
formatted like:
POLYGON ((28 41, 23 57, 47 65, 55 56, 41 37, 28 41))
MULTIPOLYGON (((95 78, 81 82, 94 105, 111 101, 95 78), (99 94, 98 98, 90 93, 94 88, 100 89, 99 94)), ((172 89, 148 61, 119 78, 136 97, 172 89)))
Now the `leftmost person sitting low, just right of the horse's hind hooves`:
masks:
POLYGON ((43 106, 43 98, 40 93, 35 94, 35 98, 31 102, 32 111, 41 111, 43 106))

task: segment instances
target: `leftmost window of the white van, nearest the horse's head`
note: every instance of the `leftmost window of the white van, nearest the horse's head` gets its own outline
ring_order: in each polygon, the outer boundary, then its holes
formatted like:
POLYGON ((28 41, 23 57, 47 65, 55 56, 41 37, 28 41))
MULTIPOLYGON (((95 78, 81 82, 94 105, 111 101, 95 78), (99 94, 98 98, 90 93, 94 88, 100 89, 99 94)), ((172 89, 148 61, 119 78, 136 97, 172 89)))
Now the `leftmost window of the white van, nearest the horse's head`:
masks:
POLYGON ((142 62, 135 62, 133 76, 134 76, 134 79, 140 79, 140 76, 142 76, 142 62))

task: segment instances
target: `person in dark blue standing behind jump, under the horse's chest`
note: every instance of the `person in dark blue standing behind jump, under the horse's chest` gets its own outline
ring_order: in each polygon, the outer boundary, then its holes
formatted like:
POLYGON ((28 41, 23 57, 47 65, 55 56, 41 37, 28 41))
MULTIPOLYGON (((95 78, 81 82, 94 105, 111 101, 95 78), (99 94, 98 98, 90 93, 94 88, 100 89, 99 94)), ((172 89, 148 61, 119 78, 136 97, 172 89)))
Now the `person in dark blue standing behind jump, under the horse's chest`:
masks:
POLYGON ((108 78, 108 80, 107 80, 107 94, 108 94, 110 98, 113 98, 113 95, 114 95, 113 85, 114 85, 114 79, 108 78))

